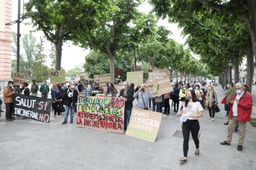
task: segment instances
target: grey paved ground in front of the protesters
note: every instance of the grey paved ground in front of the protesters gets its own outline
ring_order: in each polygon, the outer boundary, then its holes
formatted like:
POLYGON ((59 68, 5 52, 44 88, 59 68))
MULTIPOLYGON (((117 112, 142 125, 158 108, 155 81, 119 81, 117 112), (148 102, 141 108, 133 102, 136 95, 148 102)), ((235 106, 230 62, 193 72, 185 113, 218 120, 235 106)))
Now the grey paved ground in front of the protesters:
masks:
MULTIPOLYGON (((215 87, 219 102, 224 91, 215 87)), ((226 139, 227 121, 224 105, 219 105, 215 121, 208 111, 200 118, 200 155, 194 156, 194 142, 189 142, 188 163, 180 164, 183 139, 173 137, 181 130, 179 117, 162 119, 155 143, 108 132, 75 127, 51 115, 51 123, 31 119, 0 119, 0 169, 256 169, 255 128, 247 123, 244 150, 236 150, 238 136, 231 145, 226 139)), ((254 114, 255 116, 255 107, 254 114)))

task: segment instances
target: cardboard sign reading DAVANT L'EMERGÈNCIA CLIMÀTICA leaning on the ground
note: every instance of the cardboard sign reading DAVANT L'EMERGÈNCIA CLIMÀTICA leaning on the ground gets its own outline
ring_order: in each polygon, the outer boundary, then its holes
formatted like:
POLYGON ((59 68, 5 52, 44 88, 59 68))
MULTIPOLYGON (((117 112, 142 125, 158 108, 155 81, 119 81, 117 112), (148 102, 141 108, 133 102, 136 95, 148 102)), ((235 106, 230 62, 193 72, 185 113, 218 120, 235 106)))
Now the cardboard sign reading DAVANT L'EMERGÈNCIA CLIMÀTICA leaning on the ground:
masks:
POLYGON ((126 135, 155 142, 161 119, 162 113, 132 108, 126 135))

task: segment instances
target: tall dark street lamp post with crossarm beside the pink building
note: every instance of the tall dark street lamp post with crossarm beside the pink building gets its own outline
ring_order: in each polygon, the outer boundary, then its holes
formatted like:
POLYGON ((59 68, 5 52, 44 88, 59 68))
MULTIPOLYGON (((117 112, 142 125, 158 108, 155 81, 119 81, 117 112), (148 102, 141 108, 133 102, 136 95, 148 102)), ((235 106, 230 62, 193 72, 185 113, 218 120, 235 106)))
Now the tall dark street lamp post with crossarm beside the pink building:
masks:
POLYGON ((15 23, 17 23, 17 73, 20 72, 20 23, 29 18, 30 15, 25 14, 22 15, 22 17, 20 18, 20 0, 18 1, 18 19, 9 23, 6 23, 6 25, 10 26, 13 25, 15 23))

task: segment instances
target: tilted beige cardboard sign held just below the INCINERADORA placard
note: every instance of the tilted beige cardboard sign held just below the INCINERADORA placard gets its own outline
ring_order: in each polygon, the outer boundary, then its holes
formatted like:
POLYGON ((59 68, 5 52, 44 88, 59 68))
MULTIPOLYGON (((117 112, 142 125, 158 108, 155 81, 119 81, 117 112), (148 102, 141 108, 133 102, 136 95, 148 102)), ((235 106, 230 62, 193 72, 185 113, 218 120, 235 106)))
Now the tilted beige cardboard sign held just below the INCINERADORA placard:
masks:
POLYGON ((166 94, 168 92, 173 91, 173 87, 171 86, 171 82, 169 79, 159 79, 156 81, 151 81, 145 83, 146 89, 151 92, 151 94, 156 97, 162 94, 166 94))

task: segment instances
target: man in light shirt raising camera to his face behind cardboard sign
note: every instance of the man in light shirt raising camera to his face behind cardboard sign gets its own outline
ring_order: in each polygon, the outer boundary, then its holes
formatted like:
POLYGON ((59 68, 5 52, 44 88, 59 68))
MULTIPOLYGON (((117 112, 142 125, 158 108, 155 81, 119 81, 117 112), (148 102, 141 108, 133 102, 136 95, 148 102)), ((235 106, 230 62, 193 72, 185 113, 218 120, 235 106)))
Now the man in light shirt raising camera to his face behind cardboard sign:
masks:
POLYGON ((148 101, 153 98, 153 95, 147 91, 145 84, 142 84, 139 90, 135 92, 134 98, 138 98, 137 108, 148 110, 148 101))

